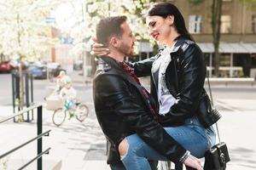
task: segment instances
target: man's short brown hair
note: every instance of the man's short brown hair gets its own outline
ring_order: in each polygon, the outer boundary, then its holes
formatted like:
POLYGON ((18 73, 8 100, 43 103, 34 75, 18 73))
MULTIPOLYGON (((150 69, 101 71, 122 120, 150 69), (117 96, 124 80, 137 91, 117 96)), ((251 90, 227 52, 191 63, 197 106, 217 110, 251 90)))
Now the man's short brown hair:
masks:
POLYGON ((100 20, 100 22, 96 26, 97 42, 100 42, 103 45, 108 46, 109 38, 111 36, 122 36, 124 30, 121 28, 121 25, 126 20, 126 16, 114 16, 100 20))

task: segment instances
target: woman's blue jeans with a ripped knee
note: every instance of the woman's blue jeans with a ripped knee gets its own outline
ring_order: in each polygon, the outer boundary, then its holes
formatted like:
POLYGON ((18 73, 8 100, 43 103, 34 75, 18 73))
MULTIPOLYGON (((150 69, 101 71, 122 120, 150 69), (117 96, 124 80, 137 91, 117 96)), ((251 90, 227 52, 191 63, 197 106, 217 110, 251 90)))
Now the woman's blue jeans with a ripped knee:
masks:
MULTIPOLYGON (((206 150, 215 144, 213 127, 204 128, 196 117, 187 119, 182 126, 165 127, 166 132, 172 136, 183 148, 189 150, 192 156, 201 158, 206 150)), ((169 161, 166 156, 160 155, 148 144, 144 143, 137 134, 125 138, 129 144, 125 156, 121 156, 127 170, 150 170, 149 160, 169 161)))

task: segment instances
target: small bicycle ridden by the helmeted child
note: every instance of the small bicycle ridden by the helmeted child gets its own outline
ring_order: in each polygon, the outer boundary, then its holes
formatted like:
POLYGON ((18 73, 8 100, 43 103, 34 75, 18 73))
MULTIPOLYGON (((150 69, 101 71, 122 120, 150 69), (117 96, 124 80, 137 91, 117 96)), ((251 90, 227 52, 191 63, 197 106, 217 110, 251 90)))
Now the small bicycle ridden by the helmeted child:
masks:
POLYGON ((74 116, 79 122, 84 122, 85 118, 89 114, 88 106, 82 103, 74 103, 73 106, 70 106, 70 101, 65 101, 64 106, 62 108, 58 108, 55 110, 52 116, 52 122, 55 126, 59 127, 63 122, 65 122, 67 113, 68 113, 68 120, 73 118, 74 116))

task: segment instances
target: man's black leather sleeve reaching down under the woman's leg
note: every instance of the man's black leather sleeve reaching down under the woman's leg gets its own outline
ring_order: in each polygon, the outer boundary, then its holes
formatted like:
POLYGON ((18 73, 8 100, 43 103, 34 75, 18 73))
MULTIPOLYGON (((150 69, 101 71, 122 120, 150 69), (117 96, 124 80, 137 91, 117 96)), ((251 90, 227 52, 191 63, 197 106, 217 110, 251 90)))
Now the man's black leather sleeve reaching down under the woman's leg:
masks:
POLYGON ((97 98, 100 97, 105 105, 119 114, 144 142, 173 162, 181 160, 187 150, 154 121, 154 117, 137 102, 138 99, 131 94, 129 85, 121 77, 101 75, 95 80, 95 85, 97 98))

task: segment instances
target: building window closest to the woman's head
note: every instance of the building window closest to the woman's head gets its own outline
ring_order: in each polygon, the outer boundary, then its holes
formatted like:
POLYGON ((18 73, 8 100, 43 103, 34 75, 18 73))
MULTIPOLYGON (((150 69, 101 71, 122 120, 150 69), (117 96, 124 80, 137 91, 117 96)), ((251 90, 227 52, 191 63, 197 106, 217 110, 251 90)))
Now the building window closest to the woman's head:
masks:
POLYGON ((189 15, 189 32, 201 33, 201 15, 189 15))

